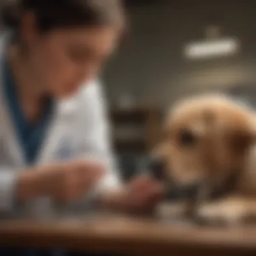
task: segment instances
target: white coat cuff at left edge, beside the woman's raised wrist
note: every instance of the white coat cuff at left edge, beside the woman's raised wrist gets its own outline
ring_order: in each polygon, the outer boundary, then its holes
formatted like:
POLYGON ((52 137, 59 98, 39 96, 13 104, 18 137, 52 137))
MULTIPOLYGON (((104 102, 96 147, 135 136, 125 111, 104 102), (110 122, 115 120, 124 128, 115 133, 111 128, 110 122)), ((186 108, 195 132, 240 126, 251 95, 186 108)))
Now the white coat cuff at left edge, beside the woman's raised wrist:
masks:
POLYGON ((9 214, 15 208, 17 173, 0 167, 0 214, 9 214))

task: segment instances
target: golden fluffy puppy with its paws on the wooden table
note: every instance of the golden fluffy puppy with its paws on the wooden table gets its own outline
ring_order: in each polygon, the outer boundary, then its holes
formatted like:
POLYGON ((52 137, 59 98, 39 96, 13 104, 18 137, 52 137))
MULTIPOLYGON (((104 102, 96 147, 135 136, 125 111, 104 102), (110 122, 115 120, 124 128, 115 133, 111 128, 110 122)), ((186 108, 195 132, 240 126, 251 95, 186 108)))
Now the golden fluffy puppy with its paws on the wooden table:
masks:
POLYGON ((256 115, 247 106, 215 94, 178 102, 166 119, 154 168, 187 194, 159 212, 191 214, 208 224, 256 218, 255 142, 256 115))

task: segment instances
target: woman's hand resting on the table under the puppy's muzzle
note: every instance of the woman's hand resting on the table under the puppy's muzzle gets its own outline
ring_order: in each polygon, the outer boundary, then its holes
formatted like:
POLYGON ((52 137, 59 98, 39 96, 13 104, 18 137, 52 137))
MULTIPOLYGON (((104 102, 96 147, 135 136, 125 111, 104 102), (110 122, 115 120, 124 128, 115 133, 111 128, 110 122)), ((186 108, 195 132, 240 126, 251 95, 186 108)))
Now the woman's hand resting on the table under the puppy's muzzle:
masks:
POLYGON ((153 210, 163 197, 164 187, 148 175, 143 175, 133 179, 123 189, 103 195, 102 203, 123 212, 146 213, 153 210))

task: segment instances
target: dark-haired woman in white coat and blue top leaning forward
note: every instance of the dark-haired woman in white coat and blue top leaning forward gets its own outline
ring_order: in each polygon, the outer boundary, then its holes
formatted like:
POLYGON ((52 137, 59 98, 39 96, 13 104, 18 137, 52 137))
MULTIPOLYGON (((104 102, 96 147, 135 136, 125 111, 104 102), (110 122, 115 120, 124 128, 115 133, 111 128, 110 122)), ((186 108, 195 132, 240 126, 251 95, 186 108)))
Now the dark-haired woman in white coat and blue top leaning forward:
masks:
POLYGON ((125 30, 119 1, 8 2, 0 43, 1 216, 47 216, 86 201, 125 211, 154 206, 159 185, 149 177, 122 185, 108 139, 98 77, 125 30))

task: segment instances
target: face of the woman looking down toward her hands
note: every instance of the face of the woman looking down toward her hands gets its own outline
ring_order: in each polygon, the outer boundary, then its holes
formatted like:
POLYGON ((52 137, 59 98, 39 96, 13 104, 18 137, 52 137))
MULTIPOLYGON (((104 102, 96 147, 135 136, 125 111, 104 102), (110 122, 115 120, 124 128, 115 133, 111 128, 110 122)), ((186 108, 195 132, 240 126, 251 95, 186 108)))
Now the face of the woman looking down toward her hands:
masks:
POLYGON ((117 30, 110 27, 30 33, 26 38, 30 70, 43 90, 65 98, 96 77, 117 38, 117 30))

